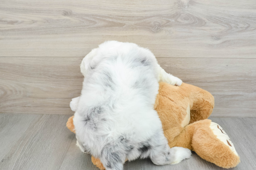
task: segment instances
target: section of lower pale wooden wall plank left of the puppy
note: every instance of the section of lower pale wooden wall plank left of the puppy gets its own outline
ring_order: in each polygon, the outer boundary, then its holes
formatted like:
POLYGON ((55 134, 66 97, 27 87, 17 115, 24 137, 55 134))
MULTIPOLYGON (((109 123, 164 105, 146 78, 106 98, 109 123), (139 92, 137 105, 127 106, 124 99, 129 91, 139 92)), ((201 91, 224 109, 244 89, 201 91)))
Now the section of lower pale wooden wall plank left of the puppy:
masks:
POLYGON ((0 58, 0 113, 74 114, 82 58, 0 58))

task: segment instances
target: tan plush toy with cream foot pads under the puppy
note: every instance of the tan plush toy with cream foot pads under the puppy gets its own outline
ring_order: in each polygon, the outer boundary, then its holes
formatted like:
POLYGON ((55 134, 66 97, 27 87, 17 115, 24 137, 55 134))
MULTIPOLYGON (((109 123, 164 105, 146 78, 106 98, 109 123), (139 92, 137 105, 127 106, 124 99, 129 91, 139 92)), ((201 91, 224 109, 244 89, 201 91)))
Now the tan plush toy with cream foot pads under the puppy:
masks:
MULTIPOLYGON (((73 111, 77 102, 78 98, 72 99, 73 111)), ((220 125, 207 119, 213 107, 211 93, 199 87, 159 83, 154 109, 161 119, 169 146, 189 148, 202 159, 223 168, 235 167, 240 159, 234 144, 220 125)), ((68 119, 67 127, 75 133, 73 116, 68 119)), ((92 156, 91 160, 98 168, 105 169, 99 159, 92 156)))

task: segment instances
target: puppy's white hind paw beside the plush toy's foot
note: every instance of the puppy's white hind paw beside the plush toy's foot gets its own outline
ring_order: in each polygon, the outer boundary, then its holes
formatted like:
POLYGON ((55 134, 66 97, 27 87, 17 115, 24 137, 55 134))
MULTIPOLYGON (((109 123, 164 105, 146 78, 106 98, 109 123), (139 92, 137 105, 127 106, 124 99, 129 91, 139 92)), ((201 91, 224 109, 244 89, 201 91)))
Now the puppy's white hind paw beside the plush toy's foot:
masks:
POLYGON ((173 161, 171 164, 177 164, 184 159, 188 159, 191 157, 191 150, 183 147, 173 147, 171 148, 174 152, 173 161))

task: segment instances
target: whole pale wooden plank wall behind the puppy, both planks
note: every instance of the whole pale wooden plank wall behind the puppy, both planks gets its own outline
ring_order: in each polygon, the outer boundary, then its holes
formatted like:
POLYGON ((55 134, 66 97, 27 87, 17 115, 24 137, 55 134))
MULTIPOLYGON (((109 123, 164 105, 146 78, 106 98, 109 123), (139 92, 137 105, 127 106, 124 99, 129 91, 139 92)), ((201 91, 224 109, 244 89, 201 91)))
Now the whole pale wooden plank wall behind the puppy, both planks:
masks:
POLYGON ((0 113, 73 114, 79 64, 106 40, 211 92, 213 117, 256 116, 255 0, 0 1, 0 113))

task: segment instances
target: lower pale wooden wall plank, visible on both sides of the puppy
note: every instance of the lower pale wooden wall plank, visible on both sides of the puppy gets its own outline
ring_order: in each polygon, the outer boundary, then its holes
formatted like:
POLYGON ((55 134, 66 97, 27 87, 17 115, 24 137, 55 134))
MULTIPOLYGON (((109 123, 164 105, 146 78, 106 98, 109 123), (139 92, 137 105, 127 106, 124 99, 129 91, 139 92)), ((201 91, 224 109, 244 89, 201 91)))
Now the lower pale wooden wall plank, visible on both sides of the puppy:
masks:
MULTIPOLYGON (((73 114, 82 58, 1 57, 0 113, 73 114)), ((256 117, 256 59, 158 58, 183 80, 212 93, 212 117, 256 117)))

